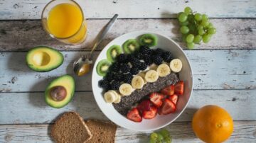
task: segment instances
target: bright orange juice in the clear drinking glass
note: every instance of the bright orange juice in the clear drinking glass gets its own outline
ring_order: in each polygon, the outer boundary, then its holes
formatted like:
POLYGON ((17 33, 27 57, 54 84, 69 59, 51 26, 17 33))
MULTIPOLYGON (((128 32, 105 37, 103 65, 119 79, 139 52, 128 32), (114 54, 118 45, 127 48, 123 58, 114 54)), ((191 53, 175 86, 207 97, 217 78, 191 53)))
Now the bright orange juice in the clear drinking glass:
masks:
POLYGON ((87 26, 80 7, 74 4, 58 4, 48 13, 47 26, 55 38, 63 42, 78 43, 86 38, 87 26))

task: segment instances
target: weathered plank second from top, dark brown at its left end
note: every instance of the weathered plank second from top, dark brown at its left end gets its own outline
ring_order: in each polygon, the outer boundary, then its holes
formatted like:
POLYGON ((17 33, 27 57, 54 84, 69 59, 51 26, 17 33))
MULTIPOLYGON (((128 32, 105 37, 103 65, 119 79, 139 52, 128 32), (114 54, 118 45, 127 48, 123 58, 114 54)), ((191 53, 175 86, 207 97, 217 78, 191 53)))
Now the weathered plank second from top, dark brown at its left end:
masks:
MULTIPOLYGON (((82 45, 65 45, 50 38, 43 31, 41 21, 0 21, 0 51, 26 51, 37 45, 48 45, 58 50, 90 50, 100 29, 108 20, 88 20, 88 37, 82 45)), ((211 19, 217 33, 206 45, 196 45, 196 49, 255 49, 255 19, 211 19)), ((119 19, 115 23, 99 49, 119 35, 136 30, 151 30, 168 36, 186 47, 182 42, 176 19, 119 19)))

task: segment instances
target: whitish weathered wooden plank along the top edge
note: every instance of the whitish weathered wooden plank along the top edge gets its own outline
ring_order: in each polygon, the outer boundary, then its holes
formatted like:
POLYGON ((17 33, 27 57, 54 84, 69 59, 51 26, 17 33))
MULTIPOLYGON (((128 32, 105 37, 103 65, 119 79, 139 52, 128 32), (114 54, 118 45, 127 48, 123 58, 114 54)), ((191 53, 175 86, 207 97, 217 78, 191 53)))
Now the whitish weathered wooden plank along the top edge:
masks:
MULTIPOLYGON (((1 0, 0 19, 40 19, 41 11, 50 0, 1 0)), ((256 17, 254 0, 242 1, 83 1, 76 0, 85 12, 86 18, 110 18, 114 13, 119 18, 173 18, 175 13, 191 6, 194 11, 207 13, 214 18, 256 17)))

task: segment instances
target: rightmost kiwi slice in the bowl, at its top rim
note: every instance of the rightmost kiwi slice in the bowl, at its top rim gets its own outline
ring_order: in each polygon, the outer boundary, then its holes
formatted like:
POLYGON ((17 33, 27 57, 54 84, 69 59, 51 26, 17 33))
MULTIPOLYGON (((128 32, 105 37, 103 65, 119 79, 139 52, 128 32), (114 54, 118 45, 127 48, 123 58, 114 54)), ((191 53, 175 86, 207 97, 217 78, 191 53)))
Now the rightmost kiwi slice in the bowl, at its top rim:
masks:
POLYGON ((148 47, 157 45, 157 37, 153 34, 144 34, 139 38, 139 44, 148 47))

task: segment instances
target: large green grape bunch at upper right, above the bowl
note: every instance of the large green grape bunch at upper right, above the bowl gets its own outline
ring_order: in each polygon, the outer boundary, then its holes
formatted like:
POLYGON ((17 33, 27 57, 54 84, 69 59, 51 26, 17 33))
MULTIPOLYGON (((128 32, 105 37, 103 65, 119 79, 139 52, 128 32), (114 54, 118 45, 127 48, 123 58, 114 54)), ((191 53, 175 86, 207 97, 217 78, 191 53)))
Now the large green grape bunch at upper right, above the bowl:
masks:
POLYGON ((195 44, 210 41, 212 35, 216 33, 213 24, 208 20, 206 14, 193 13, 190 7, 184 8, 183 12, 178 13, 178 21, 181 25, 183 41, 186 42, 188 49, 193 49, 195 44))

